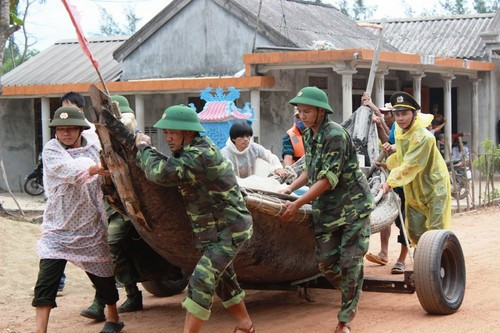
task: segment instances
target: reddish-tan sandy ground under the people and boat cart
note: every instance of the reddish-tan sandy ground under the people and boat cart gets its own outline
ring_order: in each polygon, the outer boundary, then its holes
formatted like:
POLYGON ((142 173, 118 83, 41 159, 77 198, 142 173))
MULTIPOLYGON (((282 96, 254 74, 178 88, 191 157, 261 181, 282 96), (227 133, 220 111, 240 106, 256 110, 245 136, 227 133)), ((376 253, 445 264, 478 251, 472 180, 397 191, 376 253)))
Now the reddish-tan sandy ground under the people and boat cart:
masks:
MULTIPOLYGON (((395 228, 395 227, 394 227, 395 228)), ((359 313, 352 323, 354 332, 499 332, 500 331, 500 208, 454 215, 452 230, 458 236, 466 259, 467 283, 464 302, 448 316, 429 315, 417 295, 363 293, 359 313)), ((35 311, 31 288, 37 272, 35 244, 39 226, 0 217, 0 332, 33 332, 35 311)), ((396 229, 390 243, 390 262, 376 266, 366 262, 367 277, 392 278, 390 268, 397 256, 396 229)), ((370 251, 377 252, 379 237, 374 235, 370 251)), ((50 332, 99 332, 102 323, 79 315, 90 305, 93 288, 83 271, 68 264, 65 295, 51 313, 50 332)), ((146 291, 144 311, 122 315, 124 332, 181 332, 185 294, 157 298, 146 291)), ((311 290, 314 302, 295 292, 248 291, 246 304, 258 332, 333 332, 340 293, 311 290)), ((121 299, 124 291, 120 289, 121 299)), ((120 300, 120 303, 122 302, 120 300)), ((211 319, 203 332, 232 332, 235 323, 216 301, 211 319)))

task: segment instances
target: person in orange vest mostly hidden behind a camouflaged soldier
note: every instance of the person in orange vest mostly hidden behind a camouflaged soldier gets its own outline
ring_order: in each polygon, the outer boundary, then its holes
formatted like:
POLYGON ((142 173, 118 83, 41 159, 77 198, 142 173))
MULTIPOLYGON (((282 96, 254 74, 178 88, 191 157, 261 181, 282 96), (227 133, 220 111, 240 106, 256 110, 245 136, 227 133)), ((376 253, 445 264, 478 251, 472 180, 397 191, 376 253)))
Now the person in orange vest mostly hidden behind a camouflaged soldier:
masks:
POLYGON ((286 131, 283 136, 283 165, 289 166, 297 162, 299 158, 304 156, 304 142, 302 141, 302 132, 306 129, 304 123, 300 120, 299 111, 294 107, 293 110, 293 126, 286 131))

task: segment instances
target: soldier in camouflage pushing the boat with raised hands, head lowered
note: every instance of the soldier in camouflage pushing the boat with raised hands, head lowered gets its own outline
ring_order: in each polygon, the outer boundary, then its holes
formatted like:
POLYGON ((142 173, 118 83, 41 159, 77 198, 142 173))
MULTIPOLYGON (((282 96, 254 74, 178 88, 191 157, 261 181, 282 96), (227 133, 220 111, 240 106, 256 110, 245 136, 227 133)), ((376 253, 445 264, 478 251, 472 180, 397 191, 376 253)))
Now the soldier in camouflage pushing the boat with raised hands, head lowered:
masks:
POLYGON ((255 332, 233 269, 233 260, 252 236, 248 212, 231 163, 206 136, 195 111, 171 106, 155 126, 164 130, 173 153, 165 157, 150 146, 144 134, 136 136, 137 165, 146 177, 163 186, 177 186, 191 219, 195 242, 202 252, 186 299, 184 332, 199 332, 210 316, 214 294, 238 321, 234 332, 255 332))

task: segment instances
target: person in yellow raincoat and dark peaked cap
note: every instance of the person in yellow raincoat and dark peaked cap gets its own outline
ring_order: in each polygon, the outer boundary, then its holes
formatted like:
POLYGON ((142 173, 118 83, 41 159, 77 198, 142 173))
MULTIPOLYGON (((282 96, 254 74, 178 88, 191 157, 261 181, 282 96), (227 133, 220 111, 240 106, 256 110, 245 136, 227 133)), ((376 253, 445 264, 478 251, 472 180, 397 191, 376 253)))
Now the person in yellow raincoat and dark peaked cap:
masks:
MULTIPOLYGON (((403 186, 408 238, 416 246, 424 232, 450 227, 450 178, 436 139, 427 130, 433 116, 417 112, 420 105, 406 92, 394 93, 391 104, 397 124, 396 153, 387 159, 390 174, 382 188, 387 193, 403 186)), ((388 143, 383 147, 388 154, 394 152, 388 143)))

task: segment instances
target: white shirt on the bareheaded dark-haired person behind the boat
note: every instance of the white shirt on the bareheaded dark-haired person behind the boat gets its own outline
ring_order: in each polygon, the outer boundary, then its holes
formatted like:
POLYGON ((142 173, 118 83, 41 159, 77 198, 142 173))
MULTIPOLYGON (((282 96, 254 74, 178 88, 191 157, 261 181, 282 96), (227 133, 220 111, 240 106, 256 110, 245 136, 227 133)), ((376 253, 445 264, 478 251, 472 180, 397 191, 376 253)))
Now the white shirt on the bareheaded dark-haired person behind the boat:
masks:
POLYGON ((271 171, 283 168, 278 156, 253 141, 243 151, 239 151, 231 138, 228 138, 226 146, 221 149, 221 153, 233 164, 234 173, 240 178, 255 174, 255 161, 257 158, 268 162, 271 165, 271 171))

